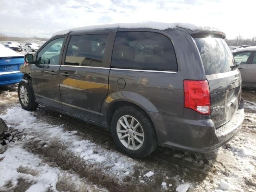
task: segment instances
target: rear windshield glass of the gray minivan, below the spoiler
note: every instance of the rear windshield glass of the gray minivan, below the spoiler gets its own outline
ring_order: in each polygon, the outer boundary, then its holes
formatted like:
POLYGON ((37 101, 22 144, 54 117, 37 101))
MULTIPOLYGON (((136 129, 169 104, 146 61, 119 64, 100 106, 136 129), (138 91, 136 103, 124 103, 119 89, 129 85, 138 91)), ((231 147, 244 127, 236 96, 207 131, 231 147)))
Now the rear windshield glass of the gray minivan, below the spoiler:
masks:
POLYGON ((231 71, 233 55, 222 38, 194 38, 204 64, 206 75, 231 71))

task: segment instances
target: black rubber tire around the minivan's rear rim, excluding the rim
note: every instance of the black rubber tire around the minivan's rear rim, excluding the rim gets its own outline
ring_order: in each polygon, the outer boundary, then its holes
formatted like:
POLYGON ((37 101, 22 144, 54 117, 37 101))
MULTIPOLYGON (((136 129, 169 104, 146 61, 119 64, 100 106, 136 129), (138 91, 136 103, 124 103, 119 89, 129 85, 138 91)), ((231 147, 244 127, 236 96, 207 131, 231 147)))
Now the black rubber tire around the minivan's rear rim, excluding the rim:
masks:
POLYGON ((111 132, 116 146, 130 157, 144 158, 152 153, 158 146, 154 125, 146 112, 136 106, 123 106, 114 112, 111 120, 111 132), (120 142, 117 134, 117 123, 122 116, 132 116, 138 120, 144 132, 144 142, 138 150, 130 150, 120 142))

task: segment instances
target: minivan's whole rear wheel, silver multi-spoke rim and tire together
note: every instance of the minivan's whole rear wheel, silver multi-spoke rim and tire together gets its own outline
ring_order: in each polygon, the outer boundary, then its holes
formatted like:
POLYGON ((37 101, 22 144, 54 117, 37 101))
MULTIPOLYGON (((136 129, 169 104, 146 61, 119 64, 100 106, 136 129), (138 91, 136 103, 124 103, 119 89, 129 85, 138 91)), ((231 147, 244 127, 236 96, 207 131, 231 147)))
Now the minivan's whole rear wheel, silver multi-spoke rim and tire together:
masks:
POLYGON ((143 110, 134 106, 116 110, 111 121, 111 132, 118 148, 131 157, 144 158, 158 144, 152 121, 143 110))

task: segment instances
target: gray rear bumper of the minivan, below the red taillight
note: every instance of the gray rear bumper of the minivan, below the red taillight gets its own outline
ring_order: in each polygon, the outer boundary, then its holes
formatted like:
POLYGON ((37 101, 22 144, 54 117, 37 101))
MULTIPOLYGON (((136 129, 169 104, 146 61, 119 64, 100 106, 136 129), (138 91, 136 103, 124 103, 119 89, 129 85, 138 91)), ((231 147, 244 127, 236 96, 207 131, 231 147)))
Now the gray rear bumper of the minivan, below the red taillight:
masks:
POLYGON ((182 118, 150 113, 160 146, 199 153, 211 152, 230 141, 240 130, 244 120, 243 98, 233 118, 218 129, 215 128, 210 116, 199 116, 192 110, 184 110, 185 117, 182 118))

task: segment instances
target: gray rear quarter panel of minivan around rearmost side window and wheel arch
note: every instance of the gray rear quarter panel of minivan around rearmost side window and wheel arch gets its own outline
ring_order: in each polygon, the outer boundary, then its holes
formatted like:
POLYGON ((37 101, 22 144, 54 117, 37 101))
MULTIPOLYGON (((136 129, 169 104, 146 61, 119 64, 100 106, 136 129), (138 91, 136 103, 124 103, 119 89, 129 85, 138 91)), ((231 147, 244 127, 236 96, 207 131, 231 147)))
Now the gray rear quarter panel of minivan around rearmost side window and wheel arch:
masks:
MULTIPOLYGON (((168 37, 174 46, 178 71, 165 73, 111 68, 108 96, 102 104, 101 123, 110 124, 107 120, 108 109, 115 102, 134 103, 144 109, 152 118, 158 142, 161 144, 166 141, 163 135, 169 132, 167 130, 171 130, 172 126, 175 126, 175 124, 170 126, 168 122, 164 122, 161 114, 166 114, 170 118, 184 115, 183 80, 206 79, 198 49, 188 32, 180 28, 166 31, 152 29, 118 29, 118 31, 157 32, 168 37), (117 82, 120 78, 126 82, 123 89, 118 88, 117 82)), ((209 117, 207 116, 207 118, 209 117)), ((179 129, 182 127, 179 126, 179 129)))

